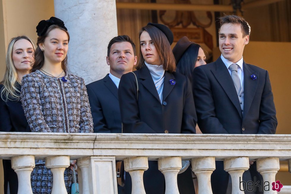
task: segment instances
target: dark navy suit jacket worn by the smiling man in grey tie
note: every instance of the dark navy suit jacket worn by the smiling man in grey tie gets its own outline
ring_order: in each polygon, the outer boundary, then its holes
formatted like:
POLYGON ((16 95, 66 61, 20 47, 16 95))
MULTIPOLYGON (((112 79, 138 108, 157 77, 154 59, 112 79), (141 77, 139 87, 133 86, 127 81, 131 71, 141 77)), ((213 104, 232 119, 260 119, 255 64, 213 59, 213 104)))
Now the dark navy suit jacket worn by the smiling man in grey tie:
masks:
MULTIPOLYGON (((220 57, 194 69, 193 95, 202 133, 275 134, 277 119, 268 71, 243 62, 243 76, 242 114, 233 80, 220 57), (252 74, 256 80, 250 77, 252 74)), ((223 164, 220 168, 211 176, 215 180, 211 182, 213 194, 226 191, 228 174, 223 171, 223 164)), ((250 171, 253 176, 260 176, 252 165, 250 171)))

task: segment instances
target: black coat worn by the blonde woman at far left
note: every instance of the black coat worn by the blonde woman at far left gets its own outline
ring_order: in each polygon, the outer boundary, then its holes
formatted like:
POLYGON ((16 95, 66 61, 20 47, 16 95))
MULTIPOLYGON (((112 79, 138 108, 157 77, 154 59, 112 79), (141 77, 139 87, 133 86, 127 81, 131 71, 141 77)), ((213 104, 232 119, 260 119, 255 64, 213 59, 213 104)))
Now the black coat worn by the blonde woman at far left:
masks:
MULTIPOLYGON (((16 87, 21 90, 21 85, 16 83, 16 87)), ((3 85, 0 85, 0 91, 3 85)), ((20 94, 19 94, 20 95, 20 94)), ((7 100, 5 102, 0 98, 0 131, 2 132, 30 132, 21 101, 7 100)), ((7 193, 7 184, 9 182, 10 193, 17 194, 18 179, 17 174, 11 168, 10 160, 3 160, 4 170, 4 193, 7 193)))

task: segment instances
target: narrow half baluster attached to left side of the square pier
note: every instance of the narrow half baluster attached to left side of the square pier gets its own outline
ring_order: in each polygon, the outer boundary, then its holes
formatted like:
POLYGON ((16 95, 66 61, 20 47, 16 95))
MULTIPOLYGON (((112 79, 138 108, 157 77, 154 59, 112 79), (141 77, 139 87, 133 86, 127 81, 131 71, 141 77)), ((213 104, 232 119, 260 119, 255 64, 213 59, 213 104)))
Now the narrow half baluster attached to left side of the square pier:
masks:
POLYGON ((88 174, 88 168, 90 165, 90 160, 88 157, 86 158, 79 158, 77 160, 78 165, 78 181, 79 181, 79 190, 80 193, 83 194, 90 194, 89 190, 89 174, 88 174))

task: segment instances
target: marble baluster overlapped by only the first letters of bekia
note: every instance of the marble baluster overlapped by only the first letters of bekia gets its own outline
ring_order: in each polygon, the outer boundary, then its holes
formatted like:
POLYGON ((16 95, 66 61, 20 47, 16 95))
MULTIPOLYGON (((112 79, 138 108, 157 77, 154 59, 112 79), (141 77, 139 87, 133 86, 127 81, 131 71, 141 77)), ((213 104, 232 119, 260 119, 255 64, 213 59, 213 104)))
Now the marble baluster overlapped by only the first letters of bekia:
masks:
MULTIPOLYGON (((242 180, 243 172, 249 169, 248 157, 232 157, 224 159, 224 170, 230 174, 232 194, 244 194, 242 180)), ((247 186, 247 185, 246 185, 247 186)))

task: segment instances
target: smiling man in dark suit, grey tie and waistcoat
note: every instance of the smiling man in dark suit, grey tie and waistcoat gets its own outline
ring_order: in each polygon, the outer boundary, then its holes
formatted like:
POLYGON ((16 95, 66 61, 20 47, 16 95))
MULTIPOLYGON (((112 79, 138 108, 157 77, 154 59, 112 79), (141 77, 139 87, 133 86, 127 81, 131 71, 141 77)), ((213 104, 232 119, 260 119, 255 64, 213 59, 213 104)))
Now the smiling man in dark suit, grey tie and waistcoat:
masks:
MULTIPOLYGON (((202 133, 275 134, 276 110, 268 71, 246 64, 243 49, 249 43, 250 26, 243 18, 220 18, 219 50, 213 63, 194 69, 193 94, 202 133)), ((256 163, 243 174, 245 180, 261 180, 256 163)), ((213 194, 231 192, 223 162, 216 162, 211 176, 213 194)), ((249 193, 263 193, 258 191, 249 193)))

